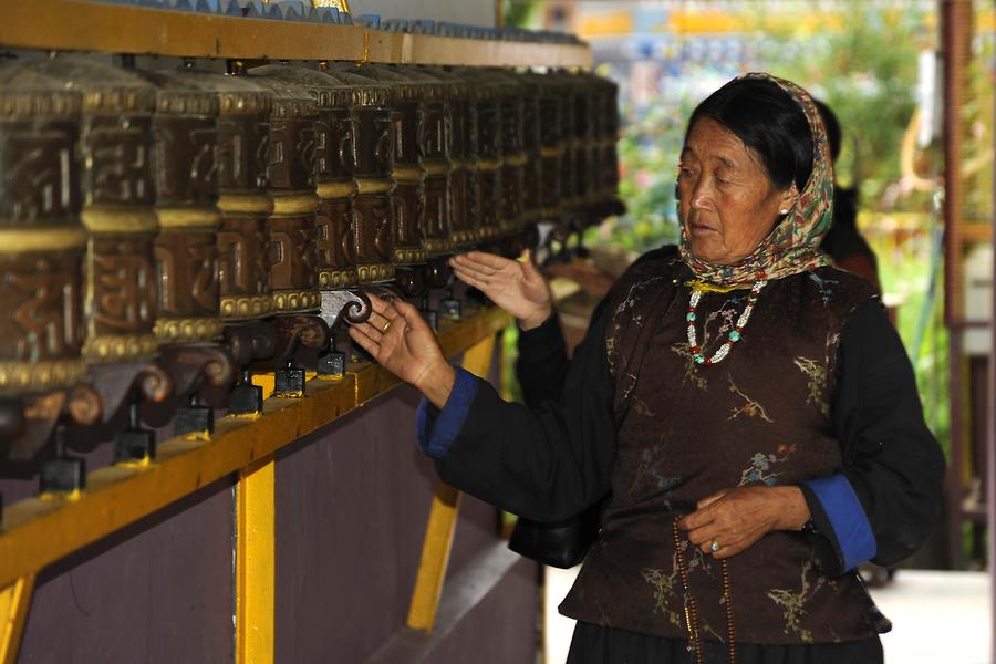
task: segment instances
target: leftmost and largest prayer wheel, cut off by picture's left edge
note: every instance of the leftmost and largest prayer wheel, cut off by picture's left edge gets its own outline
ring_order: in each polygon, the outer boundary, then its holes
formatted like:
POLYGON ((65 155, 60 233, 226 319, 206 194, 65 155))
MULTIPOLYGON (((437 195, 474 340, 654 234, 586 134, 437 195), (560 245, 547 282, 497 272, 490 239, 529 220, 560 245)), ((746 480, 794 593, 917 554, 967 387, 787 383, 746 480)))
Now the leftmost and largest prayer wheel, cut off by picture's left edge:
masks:
POLYGON ((0 395, 69 387, 85 366, 76 152, 82 96, 0 66, 0 395))

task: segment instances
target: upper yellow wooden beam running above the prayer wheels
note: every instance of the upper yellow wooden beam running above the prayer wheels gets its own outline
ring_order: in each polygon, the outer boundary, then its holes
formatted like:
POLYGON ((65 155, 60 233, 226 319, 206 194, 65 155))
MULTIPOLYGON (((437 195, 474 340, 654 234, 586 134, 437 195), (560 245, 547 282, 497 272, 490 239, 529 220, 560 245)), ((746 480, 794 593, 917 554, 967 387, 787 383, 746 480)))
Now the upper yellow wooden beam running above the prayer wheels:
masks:
POLYGON ((177 58, 591 66, 584 44, 471 40, 92 0, 3 2, 0 45, 177 58))

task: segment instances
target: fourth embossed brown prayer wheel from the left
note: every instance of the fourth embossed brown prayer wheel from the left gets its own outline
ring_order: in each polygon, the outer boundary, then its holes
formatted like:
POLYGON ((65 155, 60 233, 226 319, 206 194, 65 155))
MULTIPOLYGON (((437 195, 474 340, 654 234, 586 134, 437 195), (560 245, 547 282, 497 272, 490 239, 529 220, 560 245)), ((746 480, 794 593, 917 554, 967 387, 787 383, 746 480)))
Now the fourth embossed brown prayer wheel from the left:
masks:
POLYGON ((270 294, 267 194, 270 93, 245 76, 183 69, 178 81, 218 101, 218 310, 225 321, 263 318, 270 294))

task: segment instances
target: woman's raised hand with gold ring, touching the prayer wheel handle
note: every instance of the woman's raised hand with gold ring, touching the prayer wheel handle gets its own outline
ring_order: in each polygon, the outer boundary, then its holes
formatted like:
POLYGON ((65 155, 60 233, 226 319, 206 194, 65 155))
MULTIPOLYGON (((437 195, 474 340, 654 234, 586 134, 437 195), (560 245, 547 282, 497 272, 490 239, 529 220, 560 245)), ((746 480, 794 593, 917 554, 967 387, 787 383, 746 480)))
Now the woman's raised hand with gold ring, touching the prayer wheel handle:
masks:
POLYGON ((370 301, 370 319, 351 326, 350 336, 381 366, 417 387, 442 408, 449 398, 456 372, 443 356, 433 329, 407 302, 388 302, 376 295, 371 295, 370 301))

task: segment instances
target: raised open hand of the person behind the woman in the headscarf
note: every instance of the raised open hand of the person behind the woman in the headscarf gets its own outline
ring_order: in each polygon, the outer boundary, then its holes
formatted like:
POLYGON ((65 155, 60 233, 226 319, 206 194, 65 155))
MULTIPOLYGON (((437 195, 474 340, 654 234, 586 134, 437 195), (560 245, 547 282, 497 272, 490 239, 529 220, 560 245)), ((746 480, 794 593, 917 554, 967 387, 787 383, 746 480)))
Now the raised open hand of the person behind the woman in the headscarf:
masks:
POLYGON ((550 317, 550 287, 532 264, 529 250, 519 260, 484 251, 470 251, 449 260, 457 278, 486 294, 491 302, 532 330, 550 317))

